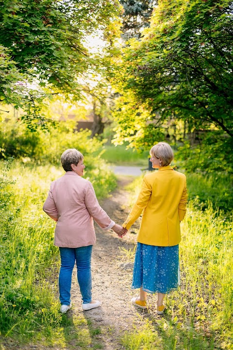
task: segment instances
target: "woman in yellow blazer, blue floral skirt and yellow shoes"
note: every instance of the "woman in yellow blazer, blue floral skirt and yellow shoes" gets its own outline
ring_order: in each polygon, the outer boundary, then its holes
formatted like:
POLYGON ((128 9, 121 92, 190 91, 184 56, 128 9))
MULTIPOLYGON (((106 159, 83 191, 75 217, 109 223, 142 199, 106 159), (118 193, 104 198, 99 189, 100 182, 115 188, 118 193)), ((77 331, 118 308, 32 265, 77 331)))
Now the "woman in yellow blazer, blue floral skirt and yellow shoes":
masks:
POLYGON ((150 150, 150 161, 158 172, 143 178, 142 188, 122 225, 128 230, 143 211, 133 267, 132 289, 140 288, 133 305, 147 308, 147 293, 158 293, 157 314, 165 309, 163 299, 179 285, 180 222, 187 204, 186 177, 174 171, 168 143, 159 142, 150 150))

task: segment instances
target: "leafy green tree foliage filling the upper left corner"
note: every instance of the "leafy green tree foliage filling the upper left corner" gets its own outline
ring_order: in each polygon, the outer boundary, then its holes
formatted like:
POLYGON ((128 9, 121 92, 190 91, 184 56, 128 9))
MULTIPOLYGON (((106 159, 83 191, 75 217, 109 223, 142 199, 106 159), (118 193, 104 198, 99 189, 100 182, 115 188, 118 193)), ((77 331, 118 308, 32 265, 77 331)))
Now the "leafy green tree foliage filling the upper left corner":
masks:
POLYGON ((108 33, 119 10, 116 0, 3 0, 2 104, 23 108, 21 119, 31 130, 39 125, 46 128, 49 121, 41 110, 44 101, 59 93, 67 100, 82 98, 80 78, 97 65, 83 46, 84 38, 97 29, 108 33))

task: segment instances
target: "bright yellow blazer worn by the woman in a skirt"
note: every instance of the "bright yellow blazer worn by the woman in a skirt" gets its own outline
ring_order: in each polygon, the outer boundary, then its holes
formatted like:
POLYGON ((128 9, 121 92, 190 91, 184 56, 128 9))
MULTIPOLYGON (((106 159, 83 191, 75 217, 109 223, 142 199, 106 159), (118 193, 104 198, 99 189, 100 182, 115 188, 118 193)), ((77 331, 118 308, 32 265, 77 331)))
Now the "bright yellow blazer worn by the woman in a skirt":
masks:
POLYGON ((170 165, 143 178, 142 188, 123 227, 129 229, 143 211, 137 241, 146 245, 171 246, 181 241, 180 221, 186 212, 184 174, 170 165))

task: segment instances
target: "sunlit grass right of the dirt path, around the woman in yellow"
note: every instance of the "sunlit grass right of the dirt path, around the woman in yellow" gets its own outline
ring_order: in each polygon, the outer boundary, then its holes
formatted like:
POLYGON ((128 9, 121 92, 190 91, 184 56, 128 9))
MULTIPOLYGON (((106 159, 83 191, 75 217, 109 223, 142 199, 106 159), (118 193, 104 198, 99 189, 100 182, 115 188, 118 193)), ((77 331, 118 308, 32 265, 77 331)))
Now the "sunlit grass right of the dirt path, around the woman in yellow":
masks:
MULTIPOLYGON (((200 202, 200 193, 211 192, 211 188, 222 198, 230 181, 201 175, 188 175, 187 180, 193 199, 182 222, 181 289, 166 297, 162 317, 153 312, 156 297, 149 297, 150 313, 139 313, 144 326, 122 337, 126 350, 233 349, 232 208, 226 214, 208 197, 204 204, 200 202), (192 184, 193 179, 197 181, 192 184)), ((129 187, 131 204, 140 185, 141 178, 129 187)), ((128 261, 133 261, 132 251, 125 252, 128 261)))

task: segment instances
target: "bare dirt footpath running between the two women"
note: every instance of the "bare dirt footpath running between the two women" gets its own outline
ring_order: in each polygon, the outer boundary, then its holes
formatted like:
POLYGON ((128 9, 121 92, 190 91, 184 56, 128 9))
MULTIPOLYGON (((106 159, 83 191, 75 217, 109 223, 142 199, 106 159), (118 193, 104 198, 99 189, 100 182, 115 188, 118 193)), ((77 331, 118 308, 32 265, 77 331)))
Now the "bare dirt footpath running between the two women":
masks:
MULTIPOLYGON (((131 177, 120 177, 116 191, 101 203, 102 208, 118 224, 125 221, 130 210, 125 207, 127 192, 124 191, 124 186, 131 181, 131 177)), ((84 315, 101 328, 104 350, 122 349, 118 342, 119 335, 122 331, 133 330, 133 324, 140 323, 136 317, 137 311, 130 302, 136 295, 131 290, 133 263, 119 249, 133 249, 136 241, 133 231, 138 227, 139 221, 132 227, 132 233, 121 239, 112 230, 105 232, 96 225, 97 244, 92 254, 92 291, 93 298, 102 304, 97 309, 85 311, 84 315)), ((81 310, 81 295, 75 274, 76 271, 72 279, 74 307, 70 310, 71 315, 81 310)))

